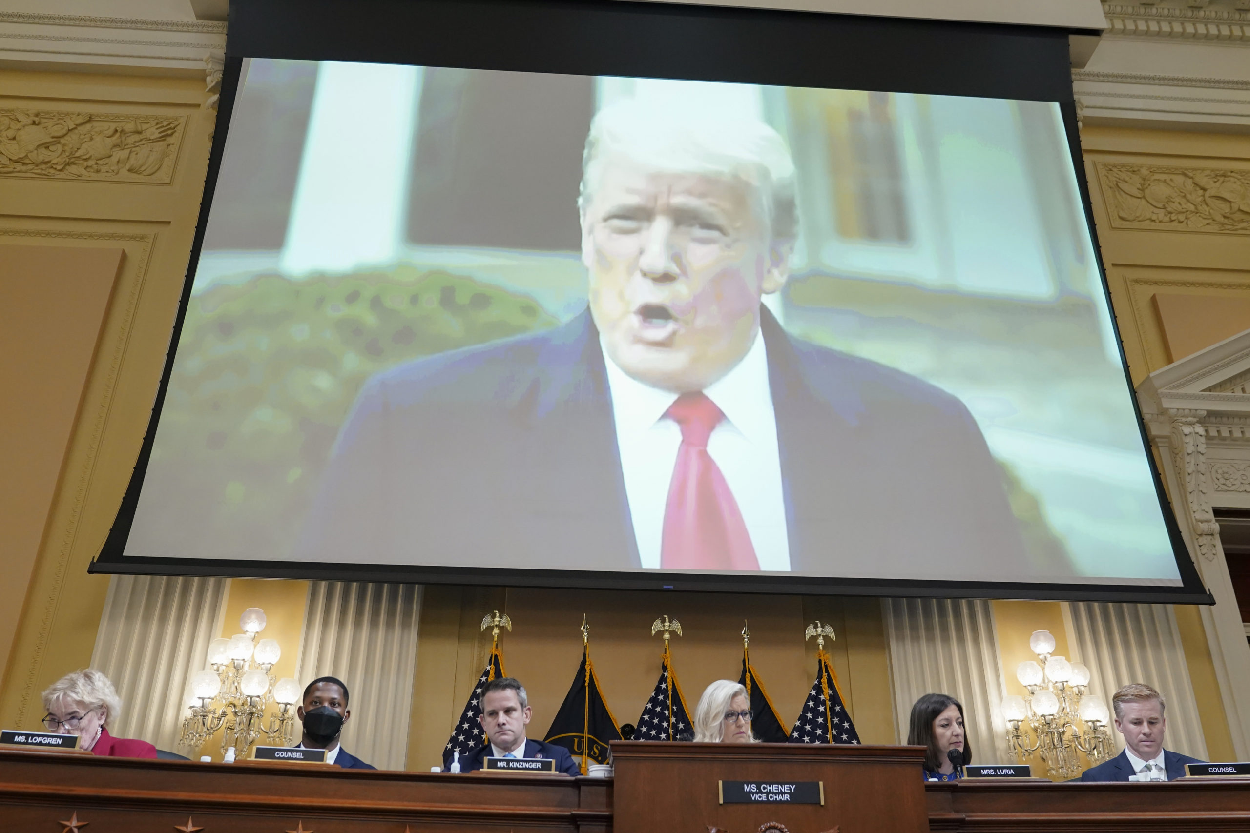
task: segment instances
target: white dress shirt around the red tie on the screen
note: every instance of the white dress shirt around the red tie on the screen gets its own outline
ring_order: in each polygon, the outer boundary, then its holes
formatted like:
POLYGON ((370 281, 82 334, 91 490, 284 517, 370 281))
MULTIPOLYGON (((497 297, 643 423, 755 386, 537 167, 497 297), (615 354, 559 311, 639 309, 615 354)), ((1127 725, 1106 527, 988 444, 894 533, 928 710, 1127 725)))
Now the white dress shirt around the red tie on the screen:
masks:
MULTIPOLYGON (((669 483, 681 446, 681 428, 664 413, 678 395, 629 376, 612 362, 606 346, 604 360, 634 537, 642 567, 656 569, 669 483)), ((742 361, 704 395, 725 415, 711 432, 708 453, 734 493, 760 569, 789 571, 778 422, 769 390, 768 353, 759 333, 742 361)))

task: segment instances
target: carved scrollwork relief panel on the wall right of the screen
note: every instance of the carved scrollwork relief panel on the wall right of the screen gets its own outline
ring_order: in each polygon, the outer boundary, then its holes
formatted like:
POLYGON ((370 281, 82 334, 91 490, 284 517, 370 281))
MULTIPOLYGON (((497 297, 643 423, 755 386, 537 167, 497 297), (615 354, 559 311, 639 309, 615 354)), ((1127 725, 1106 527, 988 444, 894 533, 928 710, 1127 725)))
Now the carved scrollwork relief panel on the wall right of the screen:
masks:
POLYGON ((1098 162, 1115 229, 1250 234, 1250 170, 1098 162))

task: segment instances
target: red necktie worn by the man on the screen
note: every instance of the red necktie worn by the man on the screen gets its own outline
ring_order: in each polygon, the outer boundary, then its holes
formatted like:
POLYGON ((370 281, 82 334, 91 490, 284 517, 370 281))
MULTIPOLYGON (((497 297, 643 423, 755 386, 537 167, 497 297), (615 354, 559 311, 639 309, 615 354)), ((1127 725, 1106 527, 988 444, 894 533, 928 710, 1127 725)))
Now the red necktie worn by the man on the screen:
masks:
POLYGON ((664 507, 660 567, 759 569, 738 501, 708 453, 708 438, 725 415, 702 393, 682 393, 665 416, 681 427, 681 446, 664 507))

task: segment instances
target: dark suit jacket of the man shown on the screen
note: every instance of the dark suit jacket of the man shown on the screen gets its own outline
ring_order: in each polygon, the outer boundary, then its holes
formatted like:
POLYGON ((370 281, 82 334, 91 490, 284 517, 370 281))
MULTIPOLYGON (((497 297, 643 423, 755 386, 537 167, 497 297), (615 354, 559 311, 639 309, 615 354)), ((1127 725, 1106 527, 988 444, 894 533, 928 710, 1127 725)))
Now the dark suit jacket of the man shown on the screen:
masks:
MULTIPOLYGON (((791 571, 1020 579, 1002 475, 968 408, 761 322, 791 571)), ((640 567, 599 332, 569 323, 371 378, 301 561, 640 567)))

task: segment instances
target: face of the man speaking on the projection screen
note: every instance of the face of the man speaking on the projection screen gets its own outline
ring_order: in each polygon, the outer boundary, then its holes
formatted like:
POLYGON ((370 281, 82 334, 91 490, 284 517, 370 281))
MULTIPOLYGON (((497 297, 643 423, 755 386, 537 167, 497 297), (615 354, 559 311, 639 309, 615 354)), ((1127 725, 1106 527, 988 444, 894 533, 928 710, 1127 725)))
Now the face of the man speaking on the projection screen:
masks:
POLYGON ((640 382, 701 391, 750 350, 760 298, 785 283, 759 189, 612 154, 581 215, 590 312, 609 357, 640 382))

